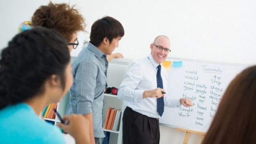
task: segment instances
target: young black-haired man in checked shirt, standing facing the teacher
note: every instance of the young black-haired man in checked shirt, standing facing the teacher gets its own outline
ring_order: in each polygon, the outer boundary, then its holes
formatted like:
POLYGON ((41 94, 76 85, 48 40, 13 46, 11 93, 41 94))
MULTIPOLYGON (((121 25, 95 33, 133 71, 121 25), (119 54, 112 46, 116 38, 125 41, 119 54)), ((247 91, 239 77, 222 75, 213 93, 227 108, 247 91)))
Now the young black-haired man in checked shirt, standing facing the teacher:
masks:
MULTIPOLYGON (((111 55, 124 36, 122 24, 109 16, 96 20, 91 27, 90 42, 72 63, 73 85, 67 114, 82 114, 89 120, 95 144, 101 144, 104 89, 107 87, 107 55, 111 55)), ((94 143, 94 142, 92 142, 94 143)))

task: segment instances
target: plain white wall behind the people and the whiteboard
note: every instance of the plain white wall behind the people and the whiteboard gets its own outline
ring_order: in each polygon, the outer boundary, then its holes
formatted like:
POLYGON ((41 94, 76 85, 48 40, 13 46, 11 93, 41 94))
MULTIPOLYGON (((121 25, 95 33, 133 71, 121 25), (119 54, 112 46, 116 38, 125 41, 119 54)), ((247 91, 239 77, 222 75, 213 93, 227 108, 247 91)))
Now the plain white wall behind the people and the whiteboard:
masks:
MULTIPOLYGON (((52 0, 69 2, 69 0, 52 0)), ((0 4, 0 50, 17 34, 21 22, 48 0, 2 0, 0 4)), ((88 33, 80 32, 79 43, 89 38, 93 22, 108 15, 124 26, 125 35, 115 52, 140 59, 160 34, 171 40, 170 57, 255 64, 255 0, 70 0, 86 18, 88 33)), ((82 45, 73 50, 77 56, 82 45)), ((185 133, 161 126, 161 144, 180 144, 185 133)), ((200 142, 191 135, 190 144, 200 142)))

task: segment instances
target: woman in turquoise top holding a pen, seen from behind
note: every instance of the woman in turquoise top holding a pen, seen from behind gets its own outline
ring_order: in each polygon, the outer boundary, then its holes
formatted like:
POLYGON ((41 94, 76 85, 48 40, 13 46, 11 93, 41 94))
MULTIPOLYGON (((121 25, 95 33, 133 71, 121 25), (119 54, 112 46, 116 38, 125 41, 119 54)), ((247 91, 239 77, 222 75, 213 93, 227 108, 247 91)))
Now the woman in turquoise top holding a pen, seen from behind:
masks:
MULTIPOLYGON (((35 27, 17 34, 0 59, 0 144, 64 144, 59 128, 39 118, 72 85, 68 43, 54 30, 35 27)), ((81 115, 58 124, 77 144, 89 143, 89 121, 81 115)))

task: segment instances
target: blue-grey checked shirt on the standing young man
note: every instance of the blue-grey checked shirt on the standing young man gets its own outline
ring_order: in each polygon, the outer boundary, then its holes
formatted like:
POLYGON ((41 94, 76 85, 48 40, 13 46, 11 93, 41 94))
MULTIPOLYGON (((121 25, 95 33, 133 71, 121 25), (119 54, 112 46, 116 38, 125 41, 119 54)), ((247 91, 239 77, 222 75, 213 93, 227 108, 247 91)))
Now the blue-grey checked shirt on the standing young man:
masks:
POLYGON ((104 89, 107 87, 106 56, 92 43, 89 43, 72 63, 73 85, 69 90, 70 103, 66 114, 92 113, 95 138, 105 137, 102 110, 104 89))

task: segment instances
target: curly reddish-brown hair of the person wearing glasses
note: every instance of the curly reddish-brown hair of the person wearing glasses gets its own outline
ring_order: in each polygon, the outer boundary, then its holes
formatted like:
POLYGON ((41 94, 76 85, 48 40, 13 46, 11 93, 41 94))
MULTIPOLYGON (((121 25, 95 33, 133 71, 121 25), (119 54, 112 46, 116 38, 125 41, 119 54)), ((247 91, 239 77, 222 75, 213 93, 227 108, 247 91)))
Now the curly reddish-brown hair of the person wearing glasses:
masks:
POLYGON ((68 4, 53 4, 40 6, 32 16, 32 26, 43 26, 55 29, 62 37, 70 42, 72 34, 78 31, 85 31, 85 19, 74 6, 68 4))

